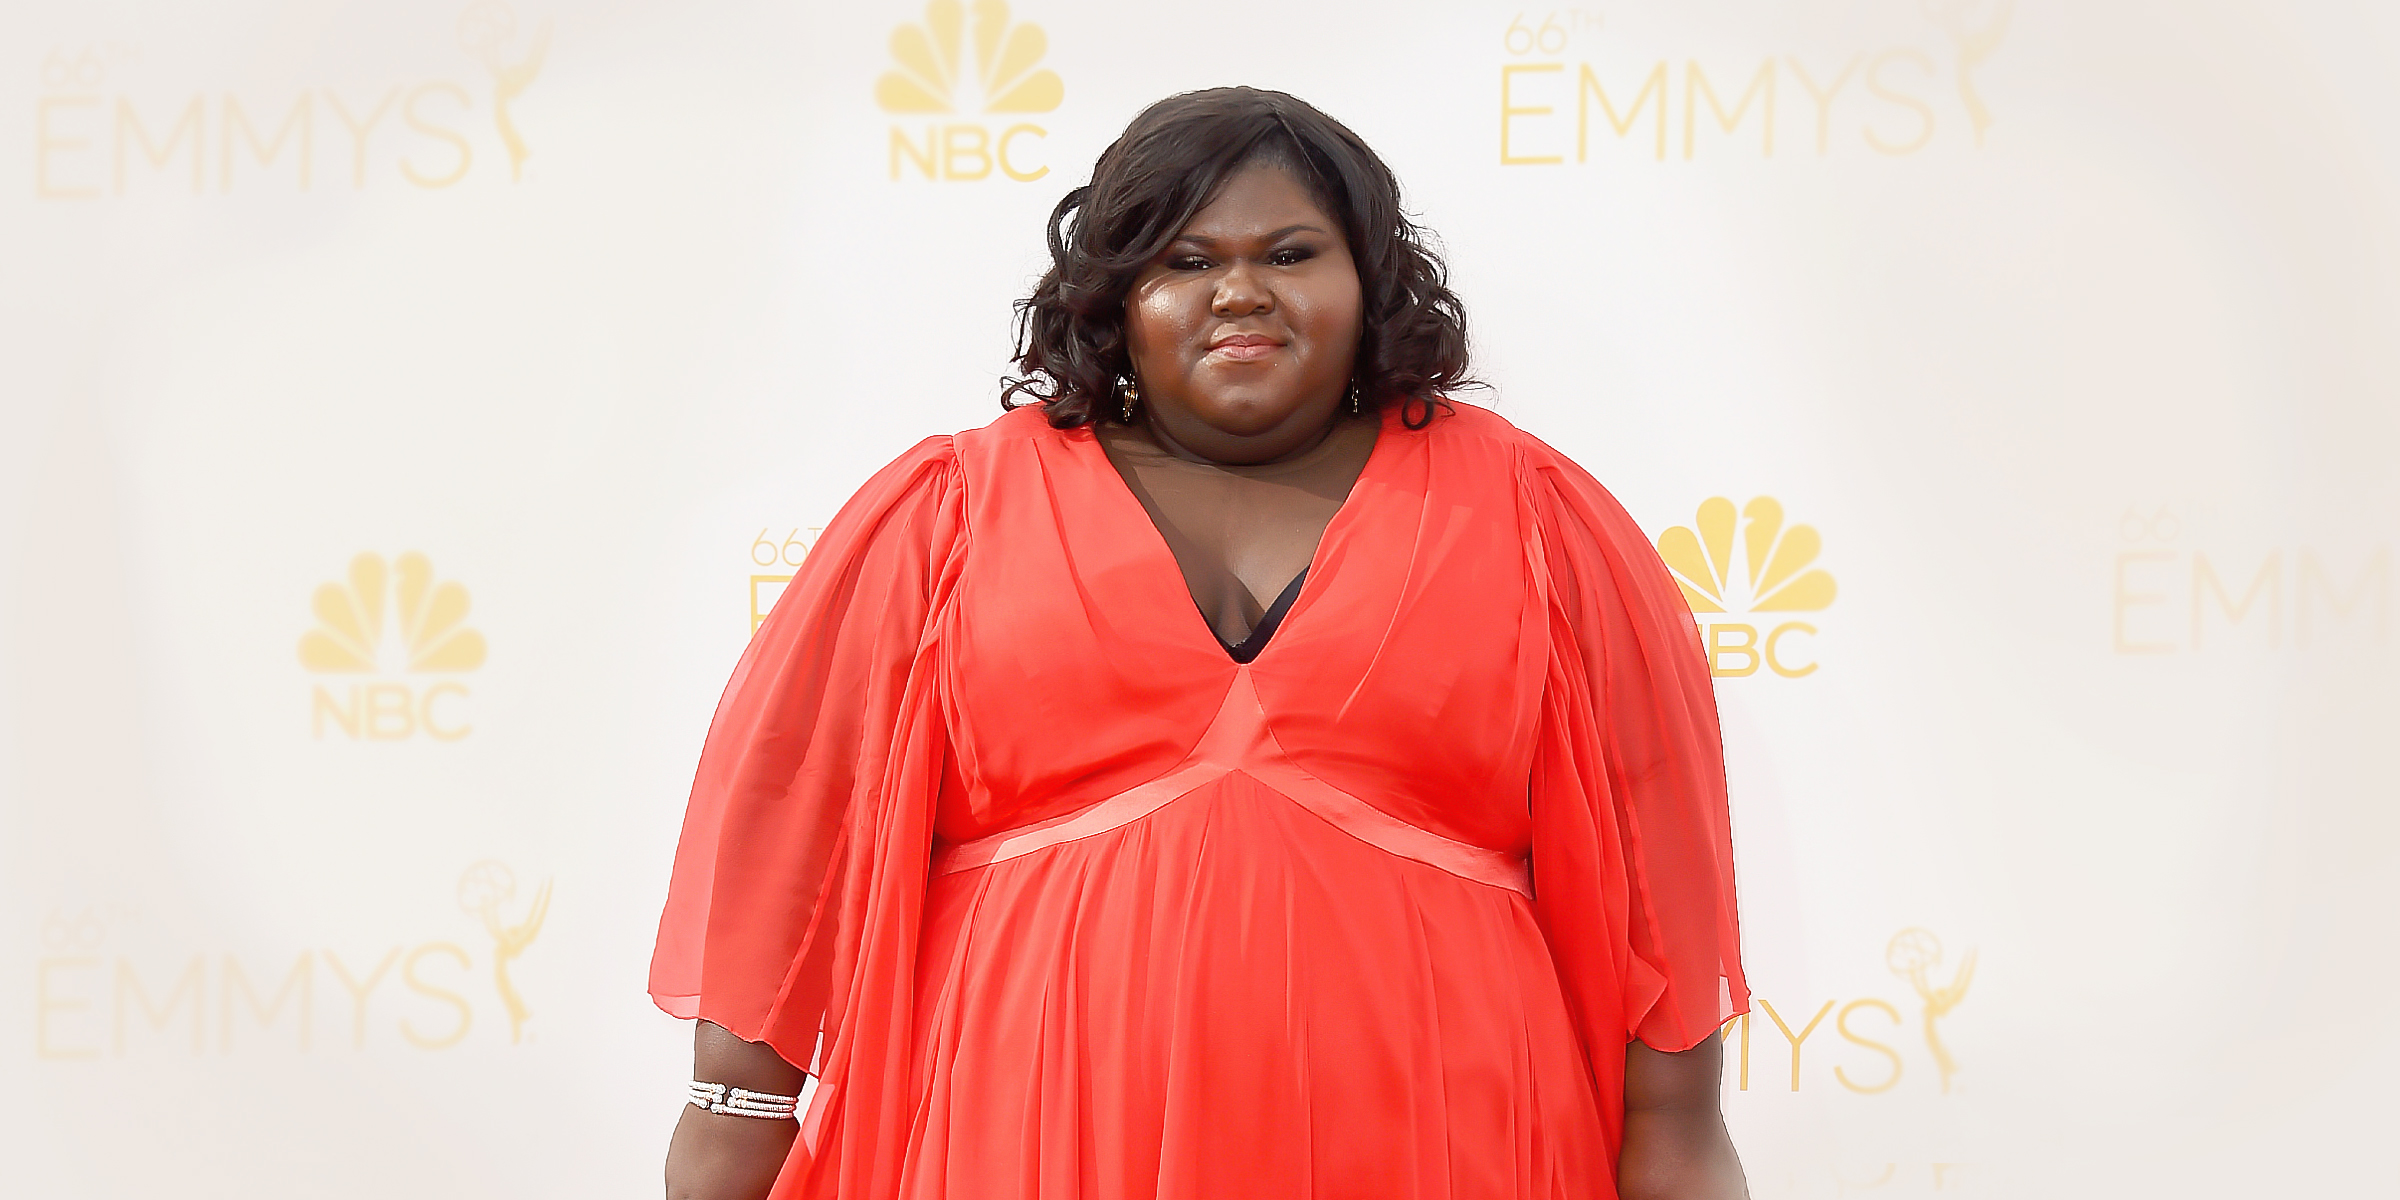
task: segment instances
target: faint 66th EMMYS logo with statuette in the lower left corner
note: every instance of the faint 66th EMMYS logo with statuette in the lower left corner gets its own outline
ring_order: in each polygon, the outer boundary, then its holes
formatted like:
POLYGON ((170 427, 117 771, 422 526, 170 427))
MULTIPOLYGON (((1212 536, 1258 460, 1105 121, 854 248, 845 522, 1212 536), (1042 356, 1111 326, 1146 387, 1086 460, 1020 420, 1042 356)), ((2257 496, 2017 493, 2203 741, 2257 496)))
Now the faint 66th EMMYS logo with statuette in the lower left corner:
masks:
MULTIPOLYGON (((492 938, 492 986, 509 1015, 509 1042, 526 1042, 526 1006, 509 967, 542 931, 550 881, 511 919, 516 874, 478 862, 458 876, 458 907, 492 938)), ((456 922, 456 917, 454 917, 456 922)), ((259 970, 254 950, 170 953, 139 936, 130 905, 50 907, 34 960, 34 1054, 50 1061, 142 1058, 156 1054, 314 1054, 338 1022, 353 1051, 398 1042, 420 1051, 458 1046, 490 1013, 475 986, 475 953, 434 936, 418 943, 314 946, 259 970), (132 943, 132 946, 127 946, 132 943)))

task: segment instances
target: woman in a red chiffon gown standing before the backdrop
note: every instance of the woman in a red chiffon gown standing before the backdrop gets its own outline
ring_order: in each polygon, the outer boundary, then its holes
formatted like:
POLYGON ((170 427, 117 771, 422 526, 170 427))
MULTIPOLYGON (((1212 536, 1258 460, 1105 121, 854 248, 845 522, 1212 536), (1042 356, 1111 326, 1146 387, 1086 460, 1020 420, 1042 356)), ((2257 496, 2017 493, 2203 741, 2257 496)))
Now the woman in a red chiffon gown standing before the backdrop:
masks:
POLYGON ((1392 173, 1176 96, 1049 245, 1042 403, 883 468, 718 708, 650 979, 715 1085, 670 1195, 1742 1195, 1690 612, 1442 398, 1392 173))

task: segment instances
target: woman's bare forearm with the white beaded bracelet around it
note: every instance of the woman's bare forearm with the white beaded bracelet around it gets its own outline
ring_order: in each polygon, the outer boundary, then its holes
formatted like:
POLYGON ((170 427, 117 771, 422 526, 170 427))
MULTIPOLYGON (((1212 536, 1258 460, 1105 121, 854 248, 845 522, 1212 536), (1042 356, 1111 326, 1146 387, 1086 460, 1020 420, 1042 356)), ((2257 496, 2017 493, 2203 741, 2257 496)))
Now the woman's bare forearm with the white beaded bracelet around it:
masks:
MULTIPOLYGON (((785 1097, 806 1082, 773 1046, 742 1042, 706 1020, 691 1034, 691 1078, 785 1097)), ((797 1135, 799 1121, 686 1104, 667 1142, 667 1200, 766 1200, 797 1135)))

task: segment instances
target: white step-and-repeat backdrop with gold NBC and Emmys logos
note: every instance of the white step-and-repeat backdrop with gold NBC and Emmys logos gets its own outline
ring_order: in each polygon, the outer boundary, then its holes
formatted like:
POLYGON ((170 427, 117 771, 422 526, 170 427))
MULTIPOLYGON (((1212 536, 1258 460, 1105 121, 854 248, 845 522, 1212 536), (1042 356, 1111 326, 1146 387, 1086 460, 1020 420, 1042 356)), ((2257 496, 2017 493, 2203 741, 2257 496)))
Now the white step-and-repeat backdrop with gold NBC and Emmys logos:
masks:
POLYGON ((1147 101, 1301 94, 1721 677, 1754 1193, 2386 1186, 2400 17, 0 10, 0 1162, 655 1195, 643 970, 816 528, 1147 101), (962 31, 962 34, 960 34, 962 31))

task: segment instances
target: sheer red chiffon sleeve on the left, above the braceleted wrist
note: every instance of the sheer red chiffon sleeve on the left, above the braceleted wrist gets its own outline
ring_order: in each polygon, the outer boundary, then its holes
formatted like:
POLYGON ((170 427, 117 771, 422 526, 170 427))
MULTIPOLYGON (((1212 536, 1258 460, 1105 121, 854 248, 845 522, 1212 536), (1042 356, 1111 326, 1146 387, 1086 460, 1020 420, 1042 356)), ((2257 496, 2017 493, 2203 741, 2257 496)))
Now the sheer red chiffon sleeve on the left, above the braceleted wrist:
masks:
POLYGON ((914 955, 958 480, 950 439, 926 439, 826 526, 718 701, 674 850, 650 996, 814 1073, 914 955))

